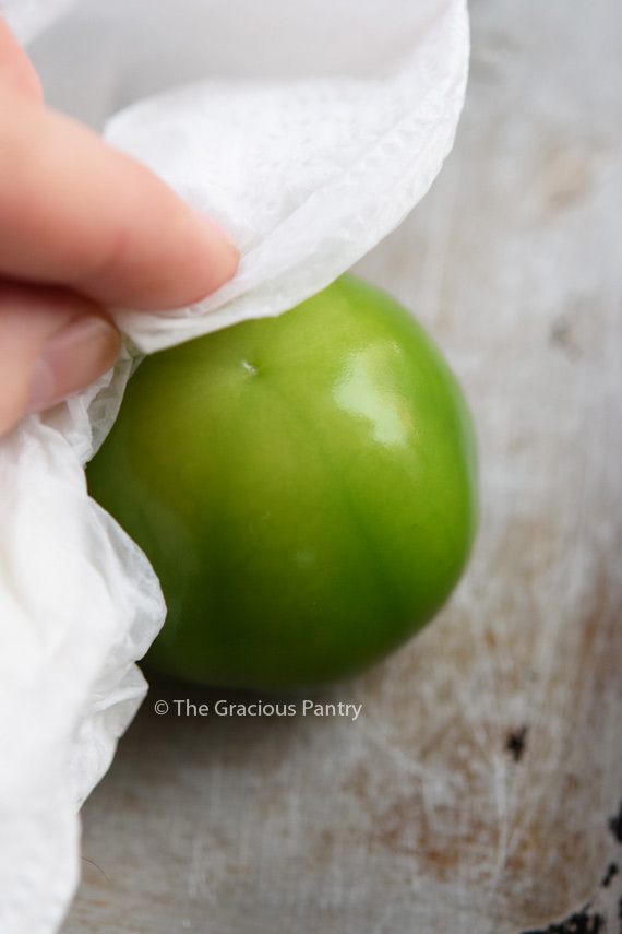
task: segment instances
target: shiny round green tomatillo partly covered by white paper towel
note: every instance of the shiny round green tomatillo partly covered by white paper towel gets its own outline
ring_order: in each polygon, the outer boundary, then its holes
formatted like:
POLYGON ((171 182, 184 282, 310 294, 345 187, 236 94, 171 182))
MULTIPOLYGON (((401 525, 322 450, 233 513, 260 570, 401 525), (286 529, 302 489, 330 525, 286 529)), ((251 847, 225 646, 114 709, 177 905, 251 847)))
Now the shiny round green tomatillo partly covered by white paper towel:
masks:
POLYGON ((311 687, 427 623, 476 528, 476 446, 430 338, 344 276, 278 318, 156 354, 88 468, 168 606, 147 661, 311 687))

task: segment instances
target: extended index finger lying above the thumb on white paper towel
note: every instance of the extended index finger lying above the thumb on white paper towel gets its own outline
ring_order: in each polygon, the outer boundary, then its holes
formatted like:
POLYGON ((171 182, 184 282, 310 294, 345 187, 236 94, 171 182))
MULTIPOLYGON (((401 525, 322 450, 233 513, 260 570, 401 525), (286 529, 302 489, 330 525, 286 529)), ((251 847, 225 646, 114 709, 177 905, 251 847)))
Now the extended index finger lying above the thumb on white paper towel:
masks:
POLYGON ((155 310, 214 292, 238 260, 227 235, 146 167, 0 90, 0 275, 155 310))

